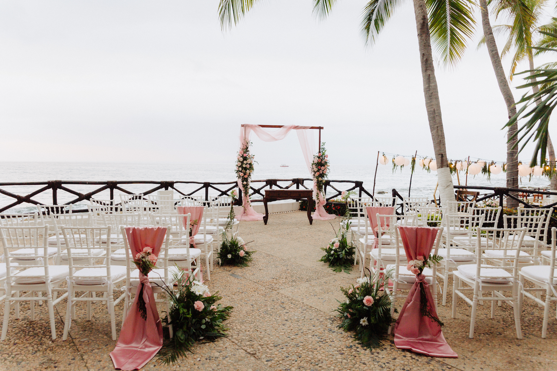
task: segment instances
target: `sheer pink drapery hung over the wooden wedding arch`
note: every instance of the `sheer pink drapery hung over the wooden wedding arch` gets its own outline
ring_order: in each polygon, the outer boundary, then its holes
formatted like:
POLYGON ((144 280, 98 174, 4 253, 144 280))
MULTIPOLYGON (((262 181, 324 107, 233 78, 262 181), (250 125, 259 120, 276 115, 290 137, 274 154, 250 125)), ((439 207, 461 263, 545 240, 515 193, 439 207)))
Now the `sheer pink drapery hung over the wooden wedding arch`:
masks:
MULTIPOLYGON (((251 132, 253 131, 256 135, 265 142, 274 142, 277 140, 282 140, 288 135, 291 130, 296 130, 298 135, 298 140, 300 141, 300 147, 302 149, 302 154, 304 154, 304 159, 306 161, 307 170, 311 174, 311 162, 313 159, 313 155, 315 154, 315 145, 314 145, 314 138, 313 133, 307 129, 311 126, 299 126, 299 125, 286 125, 279 128, 276 131, 268 132, 264 128, 259 125, 244 125, 240 130, 240 148, 242 149, 248 140, 250 140, 251 132)), ((242 180, 238 179, 238 187, 243 190, 242 187, 242 180)), ((314 182, 313 186, 314 190, 314 199, 319 198, 319 202, 316 202, 315 205, 315 212, 313 214, 313 219, 317 220, 330 220, 334 219, 336 215, 328 214, 323 205, 326 204, 325 197, 323 194, 319 193, 319 197, 317 197, 317 187, 314 182)), ((254 221, 254 220, 263 220, 263 214, 255 212, 253 207, 251 206, 250 202, 250 195, 246 194, 247 192, 242 192, 242 213, 237 216, 238 220, 245 220, 245 221, 254 221)), ((308 205, 309 207, 309 205, 308 205)))

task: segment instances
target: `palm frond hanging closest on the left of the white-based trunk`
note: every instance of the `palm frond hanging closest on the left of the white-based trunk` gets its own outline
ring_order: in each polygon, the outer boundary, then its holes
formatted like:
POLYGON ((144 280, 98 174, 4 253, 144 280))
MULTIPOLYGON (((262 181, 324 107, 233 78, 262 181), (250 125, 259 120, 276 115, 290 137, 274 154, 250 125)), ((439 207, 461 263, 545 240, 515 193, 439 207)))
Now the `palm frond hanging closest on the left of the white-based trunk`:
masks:
POLYGON ((361 34, 370 45, 375 43, 379 32, 405 0, 371 0, 362 12, 361 34))

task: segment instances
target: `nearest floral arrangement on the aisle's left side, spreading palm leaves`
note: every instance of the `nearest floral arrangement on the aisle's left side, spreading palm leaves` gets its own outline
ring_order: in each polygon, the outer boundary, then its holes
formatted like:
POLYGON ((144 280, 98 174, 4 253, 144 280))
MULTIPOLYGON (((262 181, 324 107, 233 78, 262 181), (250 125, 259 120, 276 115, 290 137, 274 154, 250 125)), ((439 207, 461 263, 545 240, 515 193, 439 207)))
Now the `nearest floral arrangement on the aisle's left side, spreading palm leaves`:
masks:
POLYGON ((199 340, 214 342, 226 337, 228 319, 232 306, 217 304, 222 297, 209 293, 206 285, 189 278, 183 270, 174 275, 178 292, 162 287, 172 306, 163 323, 172 324, 174 337, 165 341, 158 356, 162 363, 175 363, 180 357, 193 353, 192 347, 199 340))

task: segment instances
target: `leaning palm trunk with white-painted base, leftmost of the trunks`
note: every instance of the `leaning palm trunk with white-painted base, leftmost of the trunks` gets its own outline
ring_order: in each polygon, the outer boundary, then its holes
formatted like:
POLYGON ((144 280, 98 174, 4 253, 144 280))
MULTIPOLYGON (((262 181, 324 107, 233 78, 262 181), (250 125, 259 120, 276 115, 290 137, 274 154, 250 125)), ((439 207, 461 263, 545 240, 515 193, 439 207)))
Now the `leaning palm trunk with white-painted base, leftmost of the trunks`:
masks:
POLYGON ((439 195, 441 197, 441 205, 446 206, 447 201, 455 201, 455 190, 453 189, 451 171, 447 161, 445 134, 443 131, 443 120, 441 119, 441 101, 439 101, 439 91, 433 66, 426 2, 424 0, 413 1, 418 31, 420 62, 422 65, 423 95, 426 98, 429 131, 431 131, 433 150, 435 151, 435 160, 437 162, 439 195))

